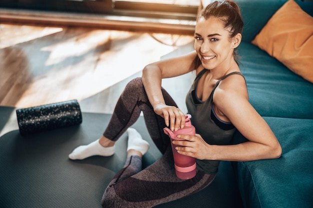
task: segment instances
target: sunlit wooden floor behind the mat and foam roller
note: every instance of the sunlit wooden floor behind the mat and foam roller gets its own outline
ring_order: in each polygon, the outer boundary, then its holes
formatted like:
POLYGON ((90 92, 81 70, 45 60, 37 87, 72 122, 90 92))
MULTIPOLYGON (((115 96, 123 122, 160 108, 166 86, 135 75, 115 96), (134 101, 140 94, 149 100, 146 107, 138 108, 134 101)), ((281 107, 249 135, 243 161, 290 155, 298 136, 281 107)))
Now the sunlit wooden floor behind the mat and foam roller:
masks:
MULTIPOLYGON (((77 99, 111 113, 126 83, 160 58, 192 50, 192 36, 83 27, 0 24, 0 105, 26 108, 77 99)), ((185 110, 193 74, 163 86, 185 110)))

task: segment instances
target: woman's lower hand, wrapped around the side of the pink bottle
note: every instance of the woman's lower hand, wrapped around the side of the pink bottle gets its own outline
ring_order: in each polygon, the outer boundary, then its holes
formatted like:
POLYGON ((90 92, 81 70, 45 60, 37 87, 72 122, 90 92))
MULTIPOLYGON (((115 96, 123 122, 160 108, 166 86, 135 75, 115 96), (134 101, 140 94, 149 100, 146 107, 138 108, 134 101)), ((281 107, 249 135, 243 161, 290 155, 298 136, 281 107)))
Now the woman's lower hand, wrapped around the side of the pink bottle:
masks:
POLYGON ((176 147, 176 150, 181 155, 191 156, 199 160, 209 160, 211 155, 211 146, 207 144, 203 138, 196 134, 192 135, 177 135, 179 139, 184 140, 173 140, 174 145, 182 147, 176 147))

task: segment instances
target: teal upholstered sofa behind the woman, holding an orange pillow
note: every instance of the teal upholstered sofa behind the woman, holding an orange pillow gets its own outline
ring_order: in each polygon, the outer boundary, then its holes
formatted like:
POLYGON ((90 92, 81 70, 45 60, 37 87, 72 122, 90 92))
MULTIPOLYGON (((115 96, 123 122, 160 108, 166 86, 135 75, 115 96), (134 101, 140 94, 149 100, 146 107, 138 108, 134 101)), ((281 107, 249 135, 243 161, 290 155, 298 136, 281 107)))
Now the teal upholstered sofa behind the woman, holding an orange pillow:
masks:
MULTIPOLYGON (((249 101, 282 147, 279 159, 232 163, 244 208, 313 208, 313 84, 250 43, 285 1, 236 0, 249 101)), ((313 2, 296 2, 313 15, 313 2)), ((233 143, 244 141, 236 132, 233 143)))

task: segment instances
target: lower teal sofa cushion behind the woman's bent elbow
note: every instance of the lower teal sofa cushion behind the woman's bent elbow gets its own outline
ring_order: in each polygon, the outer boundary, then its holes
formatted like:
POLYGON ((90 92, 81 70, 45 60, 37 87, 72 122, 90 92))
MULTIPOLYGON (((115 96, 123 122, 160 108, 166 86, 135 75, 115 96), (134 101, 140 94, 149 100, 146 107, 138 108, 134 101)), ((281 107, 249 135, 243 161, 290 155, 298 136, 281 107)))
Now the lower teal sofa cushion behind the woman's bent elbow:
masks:
MULTIPOLYGON (((236 163, 244 207, 311 208, 313 120, 265 117, 282 147, 279 159, 236 163)), ((245 139, 235 135, 236 143, 245 139)))

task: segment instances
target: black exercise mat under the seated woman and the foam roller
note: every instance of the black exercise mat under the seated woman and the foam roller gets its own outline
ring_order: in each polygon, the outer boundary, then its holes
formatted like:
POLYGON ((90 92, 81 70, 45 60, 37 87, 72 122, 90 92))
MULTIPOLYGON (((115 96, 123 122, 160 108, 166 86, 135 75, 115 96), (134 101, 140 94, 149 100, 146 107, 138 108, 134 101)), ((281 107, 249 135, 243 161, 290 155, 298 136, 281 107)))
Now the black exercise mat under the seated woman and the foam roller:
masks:
MULTIPOLYGON (((2 110, 13 108, 0 107, 0 115, 2 110)), ((127 135, 119 138, 110 157, 71 161, 68 154, 97 139, 111 115, 82 113, 82 117, 81 125, 24 136, 14 130, 0 137, 0 208, 101 208, 106 186, 125 163, 127 135)), ((142 161, 146 167, 161 154, 142 117, 132 127, 150 144, 142 161)), ((206 207, 242 208, 229 162, 220 163, 215 180, 201 192, 155 208, 206 207)))

